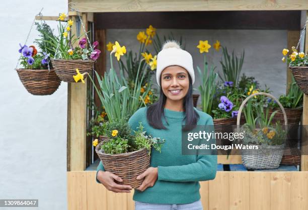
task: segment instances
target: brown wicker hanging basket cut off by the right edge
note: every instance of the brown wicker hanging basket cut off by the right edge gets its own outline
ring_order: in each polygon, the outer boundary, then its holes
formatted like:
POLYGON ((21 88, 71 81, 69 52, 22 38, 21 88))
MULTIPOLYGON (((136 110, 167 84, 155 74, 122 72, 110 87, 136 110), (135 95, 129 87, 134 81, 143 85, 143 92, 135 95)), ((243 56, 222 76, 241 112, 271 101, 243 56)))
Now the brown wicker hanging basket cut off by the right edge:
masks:
POLYGON ((291 72, 294 76, 294 79, 298 87, 308 94, 308 66, 290 66, 291 72))

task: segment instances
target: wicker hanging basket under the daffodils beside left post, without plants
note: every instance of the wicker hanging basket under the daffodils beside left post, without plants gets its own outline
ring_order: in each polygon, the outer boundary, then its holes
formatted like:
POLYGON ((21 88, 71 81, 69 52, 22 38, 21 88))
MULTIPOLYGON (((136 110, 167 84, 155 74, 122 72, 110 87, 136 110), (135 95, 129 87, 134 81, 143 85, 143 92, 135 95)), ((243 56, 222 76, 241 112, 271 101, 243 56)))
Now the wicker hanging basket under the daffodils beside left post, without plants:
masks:
MULTIPOLYGON (((62 60, 52 59, 52 66, 54 71, 61 81, 74 83, 73 76, 76 75, 76 68, 79 69, 81 74, 90 73, 93 69, 95 60, 62 60)), ((84 76, 87 78, 87 75, 84 76)), ((81 82, 81 81, 79 81, 81 82)))

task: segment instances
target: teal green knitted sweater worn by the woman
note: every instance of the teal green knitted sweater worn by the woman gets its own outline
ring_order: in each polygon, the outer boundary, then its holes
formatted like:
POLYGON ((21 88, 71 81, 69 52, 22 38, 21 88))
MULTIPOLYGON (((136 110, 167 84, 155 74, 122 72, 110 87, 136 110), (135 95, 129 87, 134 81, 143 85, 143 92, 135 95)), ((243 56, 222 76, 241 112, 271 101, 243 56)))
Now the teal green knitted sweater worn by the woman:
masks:
MULTIPOLYGON (((194 108, 200 118, 198 125, 212 125, 210 115, 194 108)), ((133 130, 137 130, 139 121, 144 130, 153 137, 166 139, 162 146, 162 153, 155 149, 151 150, 150 166, 158 167, 158 180, 153 187, 146 188, 143 192, 134 190, 133 200, 148 203, 183 204, 191 203, 200 199, 199 181, 214 179, 217 170, 216 155, 182 155, 182 124, 185 125, 184 112, 164 109, 168 128, 155 129, 146 120, 146 108, 138 109, 129 119, 128 123, 133 130)), ((97 171, 105 170, 102 162, 97 171)), ((99 180, 96 179, 98 183, 99 180)))

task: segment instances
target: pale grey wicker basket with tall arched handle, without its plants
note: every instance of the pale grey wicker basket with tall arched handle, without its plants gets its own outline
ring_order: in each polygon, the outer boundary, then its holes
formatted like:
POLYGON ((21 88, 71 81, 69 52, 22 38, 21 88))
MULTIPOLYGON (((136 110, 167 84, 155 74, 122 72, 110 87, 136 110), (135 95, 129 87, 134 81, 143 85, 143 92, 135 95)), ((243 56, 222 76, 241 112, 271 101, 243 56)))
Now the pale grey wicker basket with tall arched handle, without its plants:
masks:
MULTIPOLYGON (((271 94, 268 93, 255 93, 248 96, 239 109, 237 125, 240 125, 241 113, 246 102, 254 96, 264 95, 274 99, 283 113, 284 124, 287 125, 287 117, 284 111, 284 108, 280 104, 280 102, 271 94)), ((285 144, 277 145, 277 146, 269 146, 269 145, 260 145, 258 150, 241 150, 242 152, 242 162, 243 165, 248 169, 273 169, 278 168, 282 159, 282 155, 284 152, 285 144)))

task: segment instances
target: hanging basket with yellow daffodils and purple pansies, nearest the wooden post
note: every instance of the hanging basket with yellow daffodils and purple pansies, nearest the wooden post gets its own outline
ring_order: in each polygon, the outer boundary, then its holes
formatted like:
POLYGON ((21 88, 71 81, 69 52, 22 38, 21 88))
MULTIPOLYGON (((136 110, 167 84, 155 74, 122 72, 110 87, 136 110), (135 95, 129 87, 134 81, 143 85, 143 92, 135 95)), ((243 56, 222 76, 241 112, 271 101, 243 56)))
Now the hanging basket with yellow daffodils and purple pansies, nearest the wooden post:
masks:
MULTIPOLYGON (((82 74, 90 73, 101 51, 97 49, 99 44, 97 41, 90 43, 88 32, 84 31, 85 35, 82 34, 79 37, 71 35, 72 27, 75 26, 67 17, 64 13, 59 15, 57 36, 44 35, 49 38, 46 42, 50 45, 49 50, 54 54, 52 65, 57 76, 64 82, 74 82, 72 76, 75 74, 75 69, 78 68, 82 74)), ((82 23, 81 18, 80 21, 82 23)))

